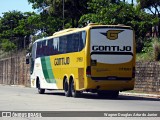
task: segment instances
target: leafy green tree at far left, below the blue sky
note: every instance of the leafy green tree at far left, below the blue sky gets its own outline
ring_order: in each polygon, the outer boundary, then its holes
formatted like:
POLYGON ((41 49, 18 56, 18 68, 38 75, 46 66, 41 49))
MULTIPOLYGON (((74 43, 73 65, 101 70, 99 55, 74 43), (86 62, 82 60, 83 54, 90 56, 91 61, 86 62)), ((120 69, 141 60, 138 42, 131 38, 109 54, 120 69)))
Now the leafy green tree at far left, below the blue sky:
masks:
POLYGON ((36 16, 35 13, 9 11, 3 14, 3 17, 0 19, 0 44, 3 42, 2 47, 7 48, 6 45, 8 43, 8 46, 15 45, 16 47, 14 48, 21 49, 23 48, 24 39, 26 45, 29 44, 29 36, 37 29, 35 24, 39 22, 36 19, 30 19, 36 16), (7 42, 4 42, 6 40, 7 42))

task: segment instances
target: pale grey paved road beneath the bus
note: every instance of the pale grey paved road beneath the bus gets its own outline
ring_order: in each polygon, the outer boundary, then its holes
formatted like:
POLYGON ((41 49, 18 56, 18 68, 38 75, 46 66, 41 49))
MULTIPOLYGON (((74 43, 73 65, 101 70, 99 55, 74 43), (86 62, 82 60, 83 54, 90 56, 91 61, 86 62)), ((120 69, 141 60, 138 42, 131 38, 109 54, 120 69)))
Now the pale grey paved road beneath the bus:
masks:
POLYGON ((124 95, 114 100, 100 99, 89 93, 72 98, 65 97, 62 91, 46 91, 40 95, 34 88, 0 85, 0 111, 160 111, 160 99, 124 95))

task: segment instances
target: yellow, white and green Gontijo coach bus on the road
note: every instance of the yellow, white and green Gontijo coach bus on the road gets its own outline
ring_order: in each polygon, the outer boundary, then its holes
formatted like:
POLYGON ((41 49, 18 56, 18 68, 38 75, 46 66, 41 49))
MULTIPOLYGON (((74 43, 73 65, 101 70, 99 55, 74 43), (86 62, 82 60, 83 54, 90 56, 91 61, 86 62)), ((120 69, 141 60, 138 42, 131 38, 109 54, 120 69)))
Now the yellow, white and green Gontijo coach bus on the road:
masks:
POLYGON ((135 34, 130 26, 89 24, 36 40, 30 58, 31 87, 117 98, 135 83, 135 34))

